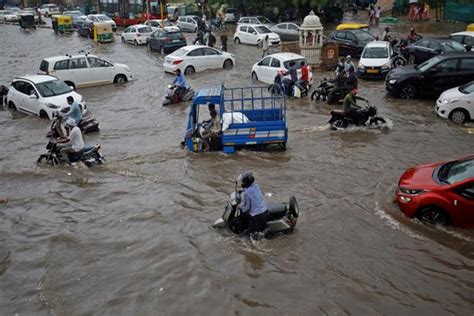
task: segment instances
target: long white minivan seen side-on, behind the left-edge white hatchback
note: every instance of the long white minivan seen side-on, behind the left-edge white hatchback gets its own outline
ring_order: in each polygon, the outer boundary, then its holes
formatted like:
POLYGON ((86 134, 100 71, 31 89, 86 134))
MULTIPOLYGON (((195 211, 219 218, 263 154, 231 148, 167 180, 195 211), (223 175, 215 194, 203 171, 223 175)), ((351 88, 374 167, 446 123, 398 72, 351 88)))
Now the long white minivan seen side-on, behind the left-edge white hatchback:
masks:
POLYGON ((127 65, 89 54, 45 58, 40 64, 40 74, 55 76, 73 88, 133 80, 127 65))

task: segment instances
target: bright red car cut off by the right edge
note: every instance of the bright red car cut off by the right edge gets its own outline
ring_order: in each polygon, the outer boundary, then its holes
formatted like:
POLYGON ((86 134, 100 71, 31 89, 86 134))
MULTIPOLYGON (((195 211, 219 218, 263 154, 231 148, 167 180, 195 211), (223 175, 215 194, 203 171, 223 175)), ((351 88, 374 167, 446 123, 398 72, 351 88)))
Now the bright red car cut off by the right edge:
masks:
POLYGON ((408 217, 433 225, 474 228, 474 155, 408 169, 396 196, 408 217))

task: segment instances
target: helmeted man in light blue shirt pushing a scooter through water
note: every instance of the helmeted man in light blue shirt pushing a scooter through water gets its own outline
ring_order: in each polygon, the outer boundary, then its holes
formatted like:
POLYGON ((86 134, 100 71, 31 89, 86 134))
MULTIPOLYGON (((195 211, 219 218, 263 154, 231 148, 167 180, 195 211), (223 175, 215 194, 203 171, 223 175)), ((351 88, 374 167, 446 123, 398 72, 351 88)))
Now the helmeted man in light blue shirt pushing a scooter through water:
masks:
POLYGON ((258 184, 255 183, 252 172, 245 171, 238 180, 242 183, 244 197, 240 210, 249 215, 249 234, 254 237, 256 233, 263 232, 267 227, 268 208, 263 193, 258 184))

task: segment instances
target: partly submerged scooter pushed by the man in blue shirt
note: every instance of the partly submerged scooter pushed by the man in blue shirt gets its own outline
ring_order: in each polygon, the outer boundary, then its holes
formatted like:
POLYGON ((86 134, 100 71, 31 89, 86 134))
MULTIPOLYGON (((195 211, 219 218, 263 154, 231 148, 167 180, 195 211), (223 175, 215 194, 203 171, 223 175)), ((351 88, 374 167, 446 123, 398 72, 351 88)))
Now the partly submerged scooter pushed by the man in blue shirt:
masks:
MULTIPOLYGON (((230 194, 229 201, 224 209, 222 217, 214 222, 215 228, 229 228, 235 234, 242 234, 248 229, 248 217, 242 214, 239 208, 241 191, 236 190, 230 194)), ((266 238, 278 233, 291 232, 298 221, 299 208, 294 196, 291 196, 288 204, 268 204, 267 228, 263 232, 266 238)))

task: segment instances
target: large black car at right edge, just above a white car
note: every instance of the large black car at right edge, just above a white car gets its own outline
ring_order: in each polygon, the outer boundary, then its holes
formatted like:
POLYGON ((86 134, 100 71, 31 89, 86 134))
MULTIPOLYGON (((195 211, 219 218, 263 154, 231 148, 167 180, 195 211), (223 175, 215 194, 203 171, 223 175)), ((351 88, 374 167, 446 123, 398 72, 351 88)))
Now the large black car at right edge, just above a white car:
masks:
POLYGON ((474 80, 474 53, 437 55, 420 65, 391 70, 385 78, 386 90, 395 97, 414 99, 438 97, 443 91, 474 80))

